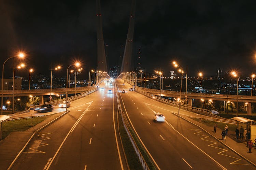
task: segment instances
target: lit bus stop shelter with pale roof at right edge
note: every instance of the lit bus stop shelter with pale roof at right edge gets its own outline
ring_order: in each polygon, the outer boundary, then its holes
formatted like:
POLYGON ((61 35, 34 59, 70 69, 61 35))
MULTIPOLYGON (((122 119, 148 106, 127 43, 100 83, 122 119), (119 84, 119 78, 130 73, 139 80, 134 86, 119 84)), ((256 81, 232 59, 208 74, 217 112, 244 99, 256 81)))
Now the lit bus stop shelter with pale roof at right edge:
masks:
MULTIPOLYGON (((238 127, 239 122, 246 124, 246 130, 248 131, 248 128, 250 128, 250 130, 251 130, 250 139, 252 139, 252 141, 254 141, 254 139, 256 138, 256 121, 255 120, 247 119, 244 117, 233 117, 231 119, 237 121, 237 127, 238 127)), ((238 127, 238 129, 239 129, 239 127, 238 127)))

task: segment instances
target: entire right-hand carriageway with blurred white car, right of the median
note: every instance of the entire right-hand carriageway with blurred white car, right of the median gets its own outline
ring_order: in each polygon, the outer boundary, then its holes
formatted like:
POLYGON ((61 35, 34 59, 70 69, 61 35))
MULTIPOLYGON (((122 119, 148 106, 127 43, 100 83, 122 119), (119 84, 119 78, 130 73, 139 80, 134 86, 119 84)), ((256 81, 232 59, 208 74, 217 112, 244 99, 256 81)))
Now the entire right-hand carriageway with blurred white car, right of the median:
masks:
POLYGON ((120 94, 123 110, 159 169, 254 169, 197 126, 171 113, 178 108, 129 91, 132 86, 123 86, 123 80, 116 82, 119 91, 126 90, 120 94), (165 123, 154 121, 156 112, 165 115, 165 123))

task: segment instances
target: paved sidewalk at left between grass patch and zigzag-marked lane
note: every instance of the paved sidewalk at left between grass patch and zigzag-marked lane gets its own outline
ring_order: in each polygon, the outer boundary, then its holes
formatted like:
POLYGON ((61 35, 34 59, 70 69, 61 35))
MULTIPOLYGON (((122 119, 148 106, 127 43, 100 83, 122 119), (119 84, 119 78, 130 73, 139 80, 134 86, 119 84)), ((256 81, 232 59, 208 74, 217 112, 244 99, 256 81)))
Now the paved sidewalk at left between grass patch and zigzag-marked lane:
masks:
POLYGON ((22 132, 12 132, 5 139, 0 141, 0 170, 6 170, 13 162, 14 158, 18 155, 20 150, 25 146, 31 135, 44 126, 45 124, 51 122, 62 113, 57 113, 45 119, 44 121, 38 123, 34 127, 22 131, 22 132))

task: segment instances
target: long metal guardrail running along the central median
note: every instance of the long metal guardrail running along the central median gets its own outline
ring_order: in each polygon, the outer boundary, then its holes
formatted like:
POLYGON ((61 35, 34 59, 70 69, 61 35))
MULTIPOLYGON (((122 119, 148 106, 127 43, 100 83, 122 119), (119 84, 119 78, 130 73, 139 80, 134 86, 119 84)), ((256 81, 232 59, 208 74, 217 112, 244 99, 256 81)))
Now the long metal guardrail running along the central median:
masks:
POLYGON ((122 121, 123 121, 123 124, 124 124, 124 128, 125 128, 125 131, 127 133, 127 135, 129 136, 129 139, 132 143, 132 146, 133 146, 133 149, 135 150, 139 160, 140 160, 140 163, 143 167, 144 170, 149 170, 149 167, 147 166, 146 162, 145 162, 145 159, 143 158, 141 152, 140 152, 140 149, 139 147, 137 146, 136 144, 136 141, 134 140, 134 138, 132 137, 132 134, 131 132, 129 131, 128 127, 127 127, 127 124, 129 125, 128 123, 128 120, 122 110, 122 107, 121 107, 121 104, 120 104, 120 100, 119 100, 119 97, 118 97, 118 90, 116 88, 116 84, 115 84, 115 91, 116 91, 116 98, 117 98, 117 105, 118 105, 118 112, 120 113, 121 117, 122 117, 122 121))

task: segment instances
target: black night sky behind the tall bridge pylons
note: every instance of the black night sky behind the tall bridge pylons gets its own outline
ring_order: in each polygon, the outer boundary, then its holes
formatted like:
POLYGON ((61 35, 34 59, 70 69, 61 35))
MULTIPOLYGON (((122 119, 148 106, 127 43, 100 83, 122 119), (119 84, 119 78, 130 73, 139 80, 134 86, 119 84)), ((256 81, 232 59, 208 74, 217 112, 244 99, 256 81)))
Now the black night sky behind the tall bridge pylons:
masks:
MULTIPOLYGON (((141 48, 142 67, 164 74, 179 62, 188 75, 214 76, 216 70, 238 69, 241 75, 256 72, 256 1, 137 1, 133 53, 141 48)), ((101 1, 104 43, 109 66, 117 65, 125 45, 131 1, 101 1)), ((96 68, 96 1, 0 0, 0 58, 18 50, 26 52, 25 70, 15 75, 61 72, 75 60, 88 70, 96 68)), ((11 72, 9 60, 4 72, 11 72)), ((17 60, 17 63, 18 60, 17 60)), ((10 74, 11 75, 11 74, 10 74)))

